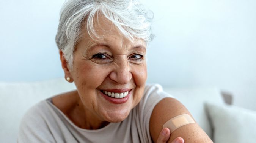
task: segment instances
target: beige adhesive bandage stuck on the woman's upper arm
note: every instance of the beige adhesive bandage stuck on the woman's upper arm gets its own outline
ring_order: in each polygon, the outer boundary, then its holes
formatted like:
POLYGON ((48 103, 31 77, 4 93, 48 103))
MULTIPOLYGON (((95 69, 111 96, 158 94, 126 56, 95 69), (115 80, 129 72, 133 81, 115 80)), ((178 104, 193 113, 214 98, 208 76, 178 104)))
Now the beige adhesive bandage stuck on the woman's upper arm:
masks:
POLYGON ((172 133, 174 130, 181 126, 193 123, 195 123, 195 121, 192 119, 192 117, 190 117, 190 115, 182 114, 171 118, 169 121, 166 121, 166 123, 163 124, 163 128, 169 128, 172 133))

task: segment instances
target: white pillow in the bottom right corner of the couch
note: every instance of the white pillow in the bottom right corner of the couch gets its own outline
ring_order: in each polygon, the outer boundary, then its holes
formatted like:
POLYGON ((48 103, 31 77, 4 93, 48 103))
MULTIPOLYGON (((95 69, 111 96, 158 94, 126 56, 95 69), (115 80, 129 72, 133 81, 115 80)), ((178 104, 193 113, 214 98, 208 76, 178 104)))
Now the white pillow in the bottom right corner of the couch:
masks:
POLYGON ((256 111, 206 103, 213 126, 214 143, 256 142, 256 111))

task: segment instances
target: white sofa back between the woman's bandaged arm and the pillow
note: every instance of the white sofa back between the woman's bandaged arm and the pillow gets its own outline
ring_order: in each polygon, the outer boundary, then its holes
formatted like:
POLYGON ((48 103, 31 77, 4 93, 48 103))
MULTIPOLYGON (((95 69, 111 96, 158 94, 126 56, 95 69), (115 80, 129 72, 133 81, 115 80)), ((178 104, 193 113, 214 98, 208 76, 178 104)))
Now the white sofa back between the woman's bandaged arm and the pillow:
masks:
POLYGON ((212 138, 212 128, 204 110, 204 103, 211 101, 224 104, 220 90, 214 87, 164 88, 164 90, 179 100, 190 111, 199 126, 212 138))

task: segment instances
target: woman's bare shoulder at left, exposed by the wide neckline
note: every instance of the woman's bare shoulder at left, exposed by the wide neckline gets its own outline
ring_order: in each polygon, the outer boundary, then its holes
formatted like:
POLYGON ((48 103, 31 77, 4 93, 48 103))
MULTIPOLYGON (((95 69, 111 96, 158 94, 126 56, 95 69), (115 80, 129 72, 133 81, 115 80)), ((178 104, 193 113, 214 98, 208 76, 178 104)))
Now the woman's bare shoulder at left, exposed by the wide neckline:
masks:
POLYGON ((66 114, 77 103, 77 91, 70 91, 52 97, 52 103, 64 114, 66 114))

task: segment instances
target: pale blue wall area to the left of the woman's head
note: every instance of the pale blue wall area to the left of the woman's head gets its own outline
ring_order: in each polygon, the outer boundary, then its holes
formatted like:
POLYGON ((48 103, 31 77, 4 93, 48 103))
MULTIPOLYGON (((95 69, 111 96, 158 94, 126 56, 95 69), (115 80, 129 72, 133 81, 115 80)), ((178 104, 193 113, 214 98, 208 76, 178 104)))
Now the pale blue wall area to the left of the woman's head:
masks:
POLYGON ((64 0, 0 0, 0 81, 63 76, 55 35, 64 0))

